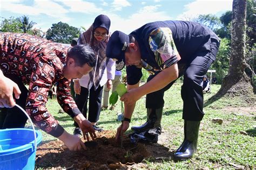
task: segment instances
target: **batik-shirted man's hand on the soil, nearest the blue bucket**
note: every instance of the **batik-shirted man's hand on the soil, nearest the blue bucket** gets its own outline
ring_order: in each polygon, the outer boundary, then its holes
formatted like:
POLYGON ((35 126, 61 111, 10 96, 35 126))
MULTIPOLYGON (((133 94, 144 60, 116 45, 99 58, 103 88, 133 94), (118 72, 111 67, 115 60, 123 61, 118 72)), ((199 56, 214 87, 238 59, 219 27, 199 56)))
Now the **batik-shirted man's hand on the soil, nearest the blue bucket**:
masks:
POLYGON ((58 139, 63 141, 70 151, 79 151, 82 148, 86 149, 84 142, 77 135, 69 134, 66 131, 64 131, 58 139))

